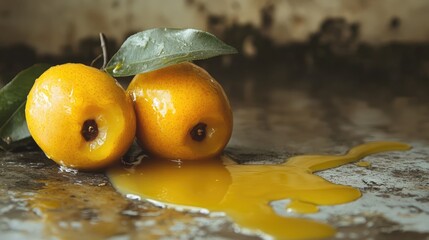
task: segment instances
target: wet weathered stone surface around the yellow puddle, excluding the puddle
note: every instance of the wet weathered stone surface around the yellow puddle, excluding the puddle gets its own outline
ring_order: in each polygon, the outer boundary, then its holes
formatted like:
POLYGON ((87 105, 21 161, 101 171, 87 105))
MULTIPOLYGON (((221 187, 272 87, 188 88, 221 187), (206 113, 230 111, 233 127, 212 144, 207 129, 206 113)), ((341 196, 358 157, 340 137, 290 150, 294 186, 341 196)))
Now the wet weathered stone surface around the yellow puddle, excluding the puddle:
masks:
MULTIPOLYGON (((429 238, 427 81, 356 74, 290 74, 283 65, 209 70, 234 111, 226 154, 241 164, 281 163, 301 154, 341 154, 368 141, 401 141, 406 152, 369 156, 319 172, 357 187, 355 202, 299 215, 329 222, 335 239, 429 238)), ((38 151, 0 153, 1 239, 258 239, 221 214, 180 212, 127 199, 104 173, 58 167, 38 151)), ((272 202, 289 216, 287 200, 272 202)), ((295 216, 295 215, 294 215, 295 216)))

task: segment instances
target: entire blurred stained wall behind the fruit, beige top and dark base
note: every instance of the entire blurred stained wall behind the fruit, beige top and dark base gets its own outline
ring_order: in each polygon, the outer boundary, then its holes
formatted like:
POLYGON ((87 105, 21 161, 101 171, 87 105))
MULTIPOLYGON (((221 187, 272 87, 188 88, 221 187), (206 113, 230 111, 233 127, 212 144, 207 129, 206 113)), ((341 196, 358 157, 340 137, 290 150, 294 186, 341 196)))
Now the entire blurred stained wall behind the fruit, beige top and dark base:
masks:
POLYGON ((277 66, 282 76, 428 82, 428 13, 427 0, 0 1, 0 87, 34 63, 90 64, 101 53, 99 32, 111 56, 130 34, 155 27, 202 29, 236 47, 234 56, 198 62, 218 73, 277 66))

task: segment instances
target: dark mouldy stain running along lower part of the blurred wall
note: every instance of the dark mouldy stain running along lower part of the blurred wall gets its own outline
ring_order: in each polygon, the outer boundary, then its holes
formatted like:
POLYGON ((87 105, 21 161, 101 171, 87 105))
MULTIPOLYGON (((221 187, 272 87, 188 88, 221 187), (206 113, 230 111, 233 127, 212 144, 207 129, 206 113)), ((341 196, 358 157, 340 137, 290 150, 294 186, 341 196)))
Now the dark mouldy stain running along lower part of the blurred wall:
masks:
MULTIPOLYGON (((192 0, 187 2, 194 4, 192 0)), ((260 12, 263 28, 271 26, 274 10, 272 5, 267 5, 260 12)), ((201 11, 204 12, 204 9, 201 11)), ((429 78, 428 43, 391 42, 371 46, 359 39, 360 29, 364 26, 358 22, 347 22, 344 18, 327 18, 307 41, 284 45, 276 45, 264 34, 264 30, 251 24, 228 25, 222 15, 208 15, 206 23, 210 32, 239 51, 239 54, 233 56, 198 62, 211 69, 258 69, 281 64, 293 74, 352 71, 359 73, 363 80, 396 79, 404 75, 426 80, 429 78)), ((387 26, 392 30, 399 29, 401 19, 392 17, 387 26)), ((109 56, 117 51, 121 42, 107 42, 109 56)), ((5 84, 19 71, 39 62, 81 62, 89 65, 99 54, 98 36, 80 40, 76 50, 65 45, 62 54, 55 56, 36 55, 35 49, 25 45, 0 47, 0 80, 5 84)), ((100 62, 96 63, 96 66, 100 65, 100 62)))

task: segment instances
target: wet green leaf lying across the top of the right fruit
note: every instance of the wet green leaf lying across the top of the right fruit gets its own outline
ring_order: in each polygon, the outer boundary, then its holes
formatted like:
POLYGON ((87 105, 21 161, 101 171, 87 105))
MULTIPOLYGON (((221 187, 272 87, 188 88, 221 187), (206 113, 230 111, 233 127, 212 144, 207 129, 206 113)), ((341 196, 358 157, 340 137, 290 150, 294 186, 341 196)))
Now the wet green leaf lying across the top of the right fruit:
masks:
POLYGON ((114 77, 125 77, 180 62, 233 53, 237 53, 235 48, 207 32, 155 28, 125 40, 105 70, 114 77))

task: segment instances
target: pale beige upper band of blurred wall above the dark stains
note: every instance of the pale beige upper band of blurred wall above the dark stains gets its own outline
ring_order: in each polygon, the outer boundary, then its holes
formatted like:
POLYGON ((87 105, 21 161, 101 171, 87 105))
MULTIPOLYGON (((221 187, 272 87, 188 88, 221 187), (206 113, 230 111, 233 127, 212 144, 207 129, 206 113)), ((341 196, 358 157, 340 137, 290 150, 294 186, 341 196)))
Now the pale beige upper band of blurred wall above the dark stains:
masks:
POLYGON ((305 41, 327 18, 359 27, 361 41, 429 40, 427 0, 14 0, 0 2, 0 46, 18 43, 39 54, 76 50, 104 32, 121 42, 154 27, 217 31, 251 25, 276 44, 305 41))

